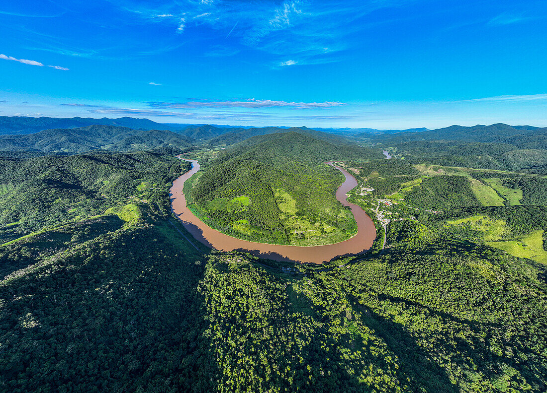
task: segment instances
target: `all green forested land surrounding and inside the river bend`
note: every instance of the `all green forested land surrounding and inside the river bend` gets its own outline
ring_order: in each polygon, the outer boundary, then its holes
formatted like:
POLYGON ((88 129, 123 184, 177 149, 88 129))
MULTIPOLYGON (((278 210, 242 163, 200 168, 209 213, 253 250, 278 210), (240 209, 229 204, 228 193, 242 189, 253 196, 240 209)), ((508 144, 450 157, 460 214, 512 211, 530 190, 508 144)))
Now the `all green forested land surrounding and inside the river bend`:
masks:
POLYGON ((547 390, 541 175, 386 160, 305 131, 190 150, 196 213, 287 242, 312 217, 351 233, 343 176, 324 165, 343 160, 350 200, 391 218, 387 247, 298 266, 212 251, 171 216, 179 147, 14 152, 0 159, 0 392, 547 390))

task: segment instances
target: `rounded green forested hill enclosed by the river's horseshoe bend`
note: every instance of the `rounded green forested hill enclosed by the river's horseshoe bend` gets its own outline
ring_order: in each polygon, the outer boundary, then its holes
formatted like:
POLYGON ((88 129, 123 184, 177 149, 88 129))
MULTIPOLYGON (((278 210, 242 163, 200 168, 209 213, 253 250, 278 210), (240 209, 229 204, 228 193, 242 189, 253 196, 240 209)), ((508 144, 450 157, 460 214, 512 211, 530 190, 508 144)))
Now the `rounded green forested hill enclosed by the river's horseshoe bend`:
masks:
POLYGON ((218 154, 191 190, 207 224, 241 239, 318 245, 351 237, 353 216, 335 198, 344 176, 327 160, 383 157, 307 133, 253 136, 218 154))

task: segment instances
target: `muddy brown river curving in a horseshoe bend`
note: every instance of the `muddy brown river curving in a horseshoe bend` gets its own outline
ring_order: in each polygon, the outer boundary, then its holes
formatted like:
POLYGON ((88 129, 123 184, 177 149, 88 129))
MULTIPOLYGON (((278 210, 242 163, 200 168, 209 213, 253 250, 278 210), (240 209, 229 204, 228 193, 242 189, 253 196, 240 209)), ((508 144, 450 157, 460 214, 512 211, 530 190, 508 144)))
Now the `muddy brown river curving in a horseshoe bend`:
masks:
POLYGON ((373 221, 366 215, 363 209, 347 201, 346 193, 357 186, 357 180, 345 169, 333 165, 332 162, 328 162, 327 164, 333 166, 346 176, 346 181, 336 190, 336 199, 340 201, 342 205, 350 207, 353 217, 355 217, 355 221, 357 222, 357 235, 340 243, 325 246, 282 246, 251 242, 225 235, 216 229, 208 227, 203 221, 194 216, 194 213, 186 206, 183 186, 184 182, 188 180, 190 176, 200 170, 200 164, 196 160, 181 159, 189 161, 192 164, 192 168, 173 182, 173 186, 169 193, 171 197, 171 208, 174 214, 182 221, 184 228, 186 228, 197 241, 203 243, 207 247, 219 251, 236 250, 248 252, 260 258, 273 259, 276 261, 321 264, 330 261, 339 255, 362 253, 373 245, 376 237, 376 229, 373 221))

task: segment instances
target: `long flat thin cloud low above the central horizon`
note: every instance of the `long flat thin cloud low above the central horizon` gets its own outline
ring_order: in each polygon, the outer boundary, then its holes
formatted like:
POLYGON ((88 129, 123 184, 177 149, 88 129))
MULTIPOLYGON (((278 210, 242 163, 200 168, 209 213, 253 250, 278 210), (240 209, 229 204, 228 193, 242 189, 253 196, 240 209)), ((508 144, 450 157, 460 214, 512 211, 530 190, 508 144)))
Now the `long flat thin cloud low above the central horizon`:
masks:
POLYGON ((168 102, 146 102, 148 106, 153 108, 165 109, 189 109, 189 108, 293 108, 293 109, 319 109, 332 108, 334 106, 345 105, 337 101, 325 102, 287 102, 279 100, 254 99, 249 98, 245 101, 226 100, 226 101, 189 101, 184 103, 168 103, 168 102))

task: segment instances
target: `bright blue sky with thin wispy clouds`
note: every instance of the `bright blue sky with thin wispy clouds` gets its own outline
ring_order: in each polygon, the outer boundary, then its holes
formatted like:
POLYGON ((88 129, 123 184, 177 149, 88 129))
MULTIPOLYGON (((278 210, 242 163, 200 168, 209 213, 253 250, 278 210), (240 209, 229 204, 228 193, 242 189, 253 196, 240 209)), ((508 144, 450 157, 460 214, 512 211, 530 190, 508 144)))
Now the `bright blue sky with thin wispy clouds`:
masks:
POLYGON ((0 116, 547 127, 544 0, 0 2, 0 116))

